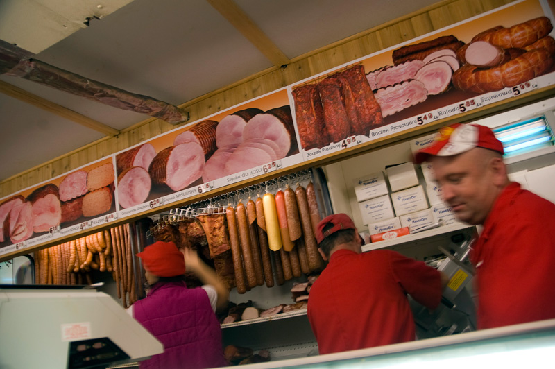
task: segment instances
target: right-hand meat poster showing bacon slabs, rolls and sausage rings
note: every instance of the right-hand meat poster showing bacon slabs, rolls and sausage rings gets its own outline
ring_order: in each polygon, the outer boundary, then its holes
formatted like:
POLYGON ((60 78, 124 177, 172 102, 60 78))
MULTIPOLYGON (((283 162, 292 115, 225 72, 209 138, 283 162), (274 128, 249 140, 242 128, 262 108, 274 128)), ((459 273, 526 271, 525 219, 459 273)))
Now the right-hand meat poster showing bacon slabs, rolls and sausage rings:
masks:
POLYGON ((552 85, 553 17, 543 6, 511 3, 291 85, 303 158, 552 85))

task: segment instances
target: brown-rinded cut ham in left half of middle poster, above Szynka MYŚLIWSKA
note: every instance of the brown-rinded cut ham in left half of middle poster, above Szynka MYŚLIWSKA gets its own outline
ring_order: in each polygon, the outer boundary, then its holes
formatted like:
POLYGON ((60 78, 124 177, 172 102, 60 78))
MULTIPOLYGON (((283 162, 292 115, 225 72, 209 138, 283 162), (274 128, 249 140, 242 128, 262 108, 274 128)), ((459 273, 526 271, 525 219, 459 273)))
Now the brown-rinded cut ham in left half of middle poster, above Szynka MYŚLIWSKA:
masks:
POLYGON ((203 147, 195 142, 187 142, 164 148, 157 153, 148 173, 153 184, 180 191, 200 178, 204 164, 203 147))

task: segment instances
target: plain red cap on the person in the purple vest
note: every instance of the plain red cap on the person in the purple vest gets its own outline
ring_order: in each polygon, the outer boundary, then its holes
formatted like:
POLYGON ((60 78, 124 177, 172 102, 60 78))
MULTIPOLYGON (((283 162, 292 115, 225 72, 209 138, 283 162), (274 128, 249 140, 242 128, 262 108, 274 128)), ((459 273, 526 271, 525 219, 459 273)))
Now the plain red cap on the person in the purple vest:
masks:
POLYGON ((137 254, 143 261, 144 268, 158 277, 173 277, 185 274, 183 253, 173 242, 157 241, 146 246, 137 254))

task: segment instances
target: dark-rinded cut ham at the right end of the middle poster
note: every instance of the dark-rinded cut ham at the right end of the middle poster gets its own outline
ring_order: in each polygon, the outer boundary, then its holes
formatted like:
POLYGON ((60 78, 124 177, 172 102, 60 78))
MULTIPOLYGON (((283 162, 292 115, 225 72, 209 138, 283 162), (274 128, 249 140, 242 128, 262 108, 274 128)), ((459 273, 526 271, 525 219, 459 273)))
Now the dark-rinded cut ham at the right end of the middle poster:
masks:
POLYGON ((257 114, 248 121, 243 131, 244 141, 259 138, 269 139, 278 144, 280 151, 276 154, 280 158, 298 152, 289 105, 257 114))

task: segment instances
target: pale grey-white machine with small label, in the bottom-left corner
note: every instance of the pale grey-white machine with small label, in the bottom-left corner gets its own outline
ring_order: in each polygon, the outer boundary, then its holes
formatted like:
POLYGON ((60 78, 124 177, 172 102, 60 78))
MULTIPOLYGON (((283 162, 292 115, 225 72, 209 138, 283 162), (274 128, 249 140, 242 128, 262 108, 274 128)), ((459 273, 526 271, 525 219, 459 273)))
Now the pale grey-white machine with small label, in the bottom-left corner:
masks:
POLYGON ((105 368, 164 351, 110 295, 71 287, 0 285, 0 368, 105 368))

